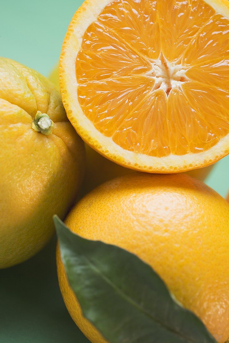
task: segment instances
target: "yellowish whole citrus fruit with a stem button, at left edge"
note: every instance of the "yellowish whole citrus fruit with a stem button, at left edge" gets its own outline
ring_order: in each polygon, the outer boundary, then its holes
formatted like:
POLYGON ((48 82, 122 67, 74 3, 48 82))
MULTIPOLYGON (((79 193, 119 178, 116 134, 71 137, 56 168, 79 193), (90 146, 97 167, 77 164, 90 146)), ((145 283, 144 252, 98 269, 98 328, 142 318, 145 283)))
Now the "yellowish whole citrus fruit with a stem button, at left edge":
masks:
POLYGON ((0 268, 33 256, 75 199, 84 146, 49 80, 0 58, 0 268))

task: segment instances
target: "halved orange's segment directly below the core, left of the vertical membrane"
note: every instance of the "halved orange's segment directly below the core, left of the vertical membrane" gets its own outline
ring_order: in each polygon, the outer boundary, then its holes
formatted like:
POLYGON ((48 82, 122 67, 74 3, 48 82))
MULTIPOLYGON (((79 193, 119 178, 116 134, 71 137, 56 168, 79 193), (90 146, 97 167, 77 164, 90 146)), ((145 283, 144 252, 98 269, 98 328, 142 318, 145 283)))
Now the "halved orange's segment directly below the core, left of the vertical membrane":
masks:
POLYGON ((113 135, 114 142, 129 151, 145 151, 151 156, 168 155, 165 93, 162 90, 151 92, 143 101, 135 103, 138 104, 135 110, 129 112, 113 135), (161 132, 164 132, 163 137, 161 132))

